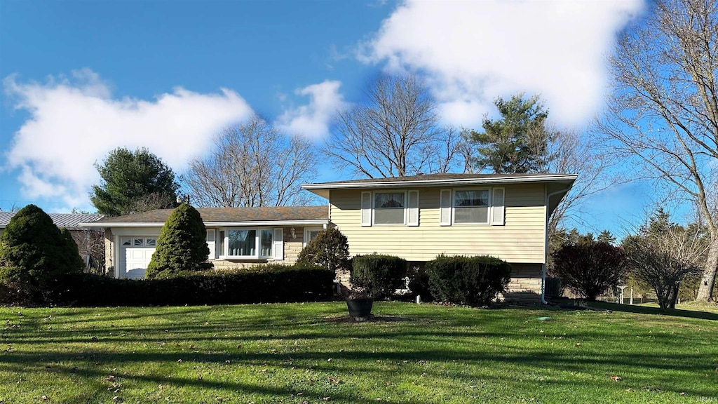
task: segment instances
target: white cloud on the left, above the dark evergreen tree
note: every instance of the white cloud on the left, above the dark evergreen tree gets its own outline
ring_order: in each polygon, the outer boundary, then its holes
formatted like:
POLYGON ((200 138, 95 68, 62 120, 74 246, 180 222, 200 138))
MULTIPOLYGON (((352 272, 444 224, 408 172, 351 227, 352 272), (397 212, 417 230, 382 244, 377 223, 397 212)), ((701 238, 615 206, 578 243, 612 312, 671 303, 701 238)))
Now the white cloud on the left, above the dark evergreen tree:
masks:
MULTIPOLYGON (((234 91, 200 94, 174 88, 154 100, 112 98, 93 71, 47 83, 4 80, 14 108, 29 119, 14 134, 5 168, 19 170, 29 198, 88 206, 90 186, 99 182, 93 163, 116 147, 148 147, 174 170, 205 150, 218 129, 251 114, 234 91)), ((59 206, 59 204, 58 204, 59 206)))

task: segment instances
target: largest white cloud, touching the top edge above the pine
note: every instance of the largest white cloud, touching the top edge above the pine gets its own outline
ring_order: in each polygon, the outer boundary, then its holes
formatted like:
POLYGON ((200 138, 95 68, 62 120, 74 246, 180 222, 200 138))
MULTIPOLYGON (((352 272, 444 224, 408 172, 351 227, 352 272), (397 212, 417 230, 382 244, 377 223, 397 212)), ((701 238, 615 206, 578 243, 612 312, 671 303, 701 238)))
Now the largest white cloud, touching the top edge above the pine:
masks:
POLYGON ((541 93, 559 124, 600 108, 605 58, 642 0, 407 0, 360 45, 365 63, 426 73, 444 119, 476 125, 493 98, 541 93))

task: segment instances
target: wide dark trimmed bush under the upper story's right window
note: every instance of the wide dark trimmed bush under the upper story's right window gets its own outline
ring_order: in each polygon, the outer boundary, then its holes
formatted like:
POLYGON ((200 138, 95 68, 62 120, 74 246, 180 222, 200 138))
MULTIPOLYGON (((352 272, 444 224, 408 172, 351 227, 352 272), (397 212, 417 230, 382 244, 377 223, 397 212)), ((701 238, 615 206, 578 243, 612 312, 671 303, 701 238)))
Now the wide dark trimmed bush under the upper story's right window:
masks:
POLYGON ((449 257, 439 255, 426 262, 429 290, 437 300, 485 306, 505 291, 511 265, 495 257, 449 257))

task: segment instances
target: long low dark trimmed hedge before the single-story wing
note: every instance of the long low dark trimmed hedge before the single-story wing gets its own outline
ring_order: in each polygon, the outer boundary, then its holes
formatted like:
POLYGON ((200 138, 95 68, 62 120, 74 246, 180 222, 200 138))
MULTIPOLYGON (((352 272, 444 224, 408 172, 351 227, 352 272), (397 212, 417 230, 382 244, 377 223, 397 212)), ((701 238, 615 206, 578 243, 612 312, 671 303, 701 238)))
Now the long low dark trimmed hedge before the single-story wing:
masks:
POLYGON ((184 272, 174 277, 142 280, 73 274, 62 277, 50 300, 56 306, 195 306, 323 300, 332 296, 334 277, 330 270, 300 265, 184 272))

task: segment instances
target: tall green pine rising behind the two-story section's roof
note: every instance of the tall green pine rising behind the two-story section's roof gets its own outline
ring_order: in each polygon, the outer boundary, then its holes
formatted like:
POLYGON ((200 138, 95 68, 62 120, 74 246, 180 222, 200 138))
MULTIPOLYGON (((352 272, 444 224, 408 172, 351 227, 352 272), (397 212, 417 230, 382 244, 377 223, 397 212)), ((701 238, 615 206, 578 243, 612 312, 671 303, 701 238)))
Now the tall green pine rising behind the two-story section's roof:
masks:
POLYGON ((549 158, 550 134, 545 127, 549 111, 538 96, 524 99, 523 93, 508 101, 496 98, 494 104, 500 118, 485 117, 484 132, 470 133, 478 147, 477 168, 494 173, 535 173, 549 158))

